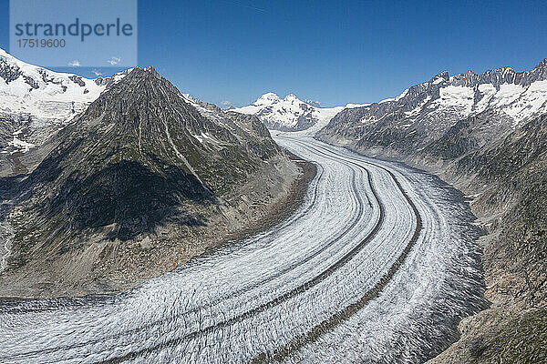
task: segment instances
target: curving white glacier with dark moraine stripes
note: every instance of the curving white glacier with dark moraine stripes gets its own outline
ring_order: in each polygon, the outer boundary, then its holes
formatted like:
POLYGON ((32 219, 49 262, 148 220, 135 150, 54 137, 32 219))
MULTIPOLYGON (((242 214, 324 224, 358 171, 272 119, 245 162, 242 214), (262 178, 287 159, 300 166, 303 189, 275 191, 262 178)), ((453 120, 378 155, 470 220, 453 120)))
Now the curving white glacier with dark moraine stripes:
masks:
POLYGON ((483 305, 469 208, 436 177, 305 135, 292 217, 125 293, 0 303, 0 362, 418 363, 483 305))

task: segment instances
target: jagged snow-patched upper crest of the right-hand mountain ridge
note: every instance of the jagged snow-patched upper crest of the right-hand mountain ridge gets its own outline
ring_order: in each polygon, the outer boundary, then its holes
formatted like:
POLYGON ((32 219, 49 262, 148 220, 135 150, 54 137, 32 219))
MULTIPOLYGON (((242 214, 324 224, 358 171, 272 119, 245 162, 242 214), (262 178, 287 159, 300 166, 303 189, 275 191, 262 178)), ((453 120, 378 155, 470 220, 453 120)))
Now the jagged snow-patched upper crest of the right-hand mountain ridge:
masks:
POLYGON ((511 67, 490 69, 483 74, 469 71, 449 76, 443 72, 378 104, 390 103, 384 110, 405 112, 410 117, 437 113, 447 119, 451 115, 451 122, 496 107, 518 124, 547 111, 546 101, 547 58, 529 72, 517 73, 511 67))

